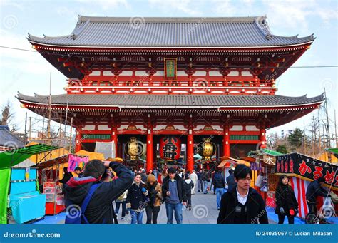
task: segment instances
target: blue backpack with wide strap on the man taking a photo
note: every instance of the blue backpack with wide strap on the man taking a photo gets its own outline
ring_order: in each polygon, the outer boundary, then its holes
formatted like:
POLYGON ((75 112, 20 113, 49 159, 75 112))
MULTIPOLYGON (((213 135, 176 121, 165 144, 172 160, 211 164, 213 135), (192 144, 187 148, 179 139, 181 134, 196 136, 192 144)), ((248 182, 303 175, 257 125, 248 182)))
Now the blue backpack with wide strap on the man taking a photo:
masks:
MULTIPOLYGON (((72 208, 68 209, 69 206, 67 207, 66 211, 68 211, 68 213, 66 214, 65 224, 81 224, 82 219, 86 224, 89 224, 84 213, 86 212, 88 204, 91 201, 91 197, 93 197, 93 194, 96 191, 96 189, 98 189, 99 185, 101 185, 101 183, 97 183, 91 186, 91 189, 89 190, 88 194, 86 195, 85 199, 83 200, 81 204, 80 212, 78 212, 78 207, 73 207, 73 210, 76 210, 75 212, 72 210, 72 208)), ((70 204, 70 205, 73 205, 73 204, 70 204)), ((114 224, 118 224, 118 220, 116 219, 115 213, 113 214, 113 217, 114 217, 114 224)))

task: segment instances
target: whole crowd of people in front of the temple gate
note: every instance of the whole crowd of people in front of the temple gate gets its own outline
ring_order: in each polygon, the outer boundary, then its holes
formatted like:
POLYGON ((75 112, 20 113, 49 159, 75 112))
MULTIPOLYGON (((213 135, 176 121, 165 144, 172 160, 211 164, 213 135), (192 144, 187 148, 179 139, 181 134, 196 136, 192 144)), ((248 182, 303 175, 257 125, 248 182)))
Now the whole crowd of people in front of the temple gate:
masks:
MULTIPOLYGON (((208 194, 213 187, 215 207, 219 210, 217 224, 267 224, 265 201, 250 187, 250 167, 237 165, 235 170, 228 172, 226 178, 221 170, 188 172, 176 167, 155 168, 147 173, 144 169, 128 169, 119 162, 91 160, 83 171, 76 168, 75 177, 65 168, 60 182, 63 183, 66 205, 81 207, 78 219, 81 223, 117 223, 121 207, 122 220, 130 214, 131 224, 143 224, 145 212, 146 223, 157 224, 160 208, 165 204, 167 223, 173 224, 175 217, 175 222, 182 224, 183 210, 192 210, 192 195, 196 192, 208 194)), ((327 196, 323 182, 324 178, 319 178, 307 188, 310 212, 317 212, 317 196, 327 196)), ((278 223, 283 224, 287 217, 289 224, 293 224, 299 205, 286 175, 280 176, 275 202, 278 223)))

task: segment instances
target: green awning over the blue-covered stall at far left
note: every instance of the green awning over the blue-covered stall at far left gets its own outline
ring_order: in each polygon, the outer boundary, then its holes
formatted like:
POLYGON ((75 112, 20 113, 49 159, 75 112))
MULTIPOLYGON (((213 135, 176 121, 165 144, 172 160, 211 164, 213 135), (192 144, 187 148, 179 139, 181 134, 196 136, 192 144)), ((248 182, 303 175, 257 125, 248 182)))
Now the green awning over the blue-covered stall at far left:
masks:
POLYGON ((37 144, 26 146, 25 148, 17 148, 13 150, 7 150, 0 153, 0 169, 6 167, 12 167, 14 165, 23 162, 24 160, 31 157, 31 155, 36 155, 41 152, 51 152, 60 147, 46 145, 46 144, 37 144))

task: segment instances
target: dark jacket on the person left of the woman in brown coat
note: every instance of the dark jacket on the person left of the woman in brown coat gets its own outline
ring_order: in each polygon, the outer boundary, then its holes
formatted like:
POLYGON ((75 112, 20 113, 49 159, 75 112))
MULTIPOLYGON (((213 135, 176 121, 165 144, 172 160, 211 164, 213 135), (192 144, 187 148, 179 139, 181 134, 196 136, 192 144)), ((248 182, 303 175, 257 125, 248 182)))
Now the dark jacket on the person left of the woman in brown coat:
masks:
MULTIPOLYGON (((127 203, 130 202, 132 210, 142 210, 148 205, 148 197, 142 192, 144 185, 140 182, 140 185, 133 183, 128 189, 127 203)), ((148 192, 146 193, 148 195, 148 192)))

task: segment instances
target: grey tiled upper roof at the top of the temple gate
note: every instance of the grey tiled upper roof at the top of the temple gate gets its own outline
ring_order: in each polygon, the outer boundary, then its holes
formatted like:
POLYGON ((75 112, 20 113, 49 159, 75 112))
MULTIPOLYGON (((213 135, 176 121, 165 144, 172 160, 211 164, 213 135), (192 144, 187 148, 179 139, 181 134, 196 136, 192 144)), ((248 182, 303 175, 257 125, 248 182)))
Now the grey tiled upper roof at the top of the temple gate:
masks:
POLYGON ((78 16, 68 36, 29 41, 55 46, 255 47, 309 43, 314 36, 275 36, 265 16, 232 18, 120 18, 78 16))

